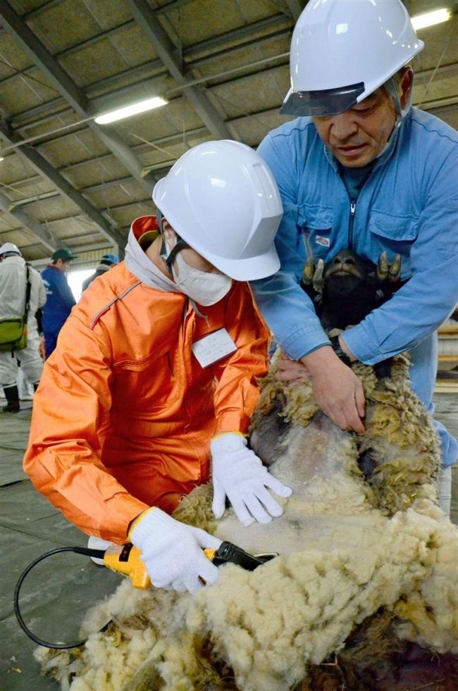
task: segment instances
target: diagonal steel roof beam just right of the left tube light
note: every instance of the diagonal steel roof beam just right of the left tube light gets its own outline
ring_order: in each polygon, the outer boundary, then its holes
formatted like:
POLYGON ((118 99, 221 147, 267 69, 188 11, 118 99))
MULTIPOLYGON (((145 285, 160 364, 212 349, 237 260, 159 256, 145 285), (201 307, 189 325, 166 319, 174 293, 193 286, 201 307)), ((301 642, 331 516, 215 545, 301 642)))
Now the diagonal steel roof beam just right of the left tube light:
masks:
POLYGON ((206 125, 209 132, 218 139, 233 139, 231 132, 221 119, 215 106, 211 103, 205 89, 202 87, 186 87, 187 77, 182 72, 182 66, 175 58, 175 46, 156 13, 151 10, 147 0, 125 0, 134 15, 135 20, 142 28, 144 35, 154 45, 159 58, 171 73, 178 86, 183 87, 184 96, 190 101, 194 111, 206 125))

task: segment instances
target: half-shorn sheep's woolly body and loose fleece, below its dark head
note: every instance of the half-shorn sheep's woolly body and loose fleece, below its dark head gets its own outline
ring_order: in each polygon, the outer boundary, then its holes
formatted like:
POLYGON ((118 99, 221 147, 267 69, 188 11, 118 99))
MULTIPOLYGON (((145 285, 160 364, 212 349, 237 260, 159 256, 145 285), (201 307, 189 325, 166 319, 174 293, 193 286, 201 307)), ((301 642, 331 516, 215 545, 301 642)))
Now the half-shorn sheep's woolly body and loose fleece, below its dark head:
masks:
POLYGON ((242 528, 228 509, 216 523, 209 486, 175 513, 280 556, 253 572, 223 566, 194 597, 125 580, 88 614, 84 648, 37 650, 43 671, 71 691, 283 691, 380 613, 397 640, 458 655, 458 530, 437 502, 438 439, 411 394, 406 359, 390 380, 364 366, 358 374, 368 399, 361 436, 316 409, 308 382, 264 382, 251 442, 293 489, 280 500, 283 516, 242 528))

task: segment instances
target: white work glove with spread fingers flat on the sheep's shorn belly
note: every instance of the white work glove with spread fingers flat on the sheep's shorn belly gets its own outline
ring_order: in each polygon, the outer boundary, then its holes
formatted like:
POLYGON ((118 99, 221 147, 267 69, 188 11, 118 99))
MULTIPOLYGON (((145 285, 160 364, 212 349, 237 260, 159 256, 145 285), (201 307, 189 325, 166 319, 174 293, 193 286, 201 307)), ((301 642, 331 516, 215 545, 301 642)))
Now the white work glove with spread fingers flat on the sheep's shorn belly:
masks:
POLYGON ((213 504, 216 518, 221 518, 227 496, 243 525, 254 521, 268 523, 271 516, 281 516, 283 509, 267 487, 280 497, 292 490, 268 473, 261 460, 247 447, 241 435, 227 432, 210 442, 213 480, 213 504))

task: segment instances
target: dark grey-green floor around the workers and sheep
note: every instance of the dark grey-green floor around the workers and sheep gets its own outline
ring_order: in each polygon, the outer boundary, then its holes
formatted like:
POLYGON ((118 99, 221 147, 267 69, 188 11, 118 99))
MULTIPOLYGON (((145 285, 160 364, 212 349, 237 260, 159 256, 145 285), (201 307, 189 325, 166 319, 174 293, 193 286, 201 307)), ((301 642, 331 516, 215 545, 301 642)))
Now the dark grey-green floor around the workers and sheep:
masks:
MULTIPOLYGON (((436 394, 435 405, 437 418, 458 437, 457 394, 436 394)), ((56 547, 85 547, 87 537, 23 473, 32 402, 23 401, 21 406, 23 410, 15 415, 0 413, 0 691, 58 691, 54 680, 40 676, 39 664, 32 657, 37 645, 16 621, 13 592, 20 574, 37 556, 56 547)), ((453 478, 452 521, 458 524, 458 466, 454 466, 453 478)), ((86 556, 71 552, 51 556, 25 579, 21 613, 37 637, 77 641, 81 616, 111 594, 121 578, 95 566, 86 556)))

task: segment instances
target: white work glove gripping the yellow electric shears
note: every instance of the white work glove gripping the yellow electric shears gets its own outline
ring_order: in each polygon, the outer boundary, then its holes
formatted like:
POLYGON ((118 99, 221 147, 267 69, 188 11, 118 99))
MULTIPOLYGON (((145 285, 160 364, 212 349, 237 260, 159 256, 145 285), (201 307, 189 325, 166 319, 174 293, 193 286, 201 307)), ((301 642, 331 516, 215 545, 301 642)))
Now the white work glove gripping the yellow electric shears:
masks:
POLYGON ((221 540, 175 521, 161 509, 153 507, 141 513, 130 529, 129 539, 141 550, 155 587, 195 592, 218 578, 218 568, 206 558, 203 549, 218 549, 221 540))

